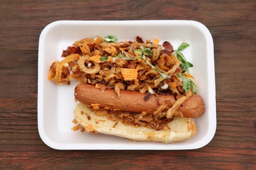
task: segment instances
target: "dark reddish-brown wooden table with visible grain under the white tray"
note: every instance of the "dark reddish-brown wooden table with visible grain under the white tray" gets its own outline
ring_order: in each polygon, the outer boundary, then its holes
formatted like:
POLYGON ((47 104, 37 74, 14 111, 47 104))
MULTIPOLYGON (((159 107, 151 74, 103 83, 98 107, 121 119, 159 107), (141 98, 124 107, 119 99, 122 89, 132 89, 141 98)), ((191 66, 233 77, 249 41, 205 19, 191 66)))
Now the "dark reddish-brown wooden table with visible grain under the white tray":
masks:
POLYGON ((256 2, 0 2, 0 169, 256 169, 256 2), (56 20, 196 20, 215 44, 217 131, 197 150, 54 150, 37 130, 37 52, 56 20))

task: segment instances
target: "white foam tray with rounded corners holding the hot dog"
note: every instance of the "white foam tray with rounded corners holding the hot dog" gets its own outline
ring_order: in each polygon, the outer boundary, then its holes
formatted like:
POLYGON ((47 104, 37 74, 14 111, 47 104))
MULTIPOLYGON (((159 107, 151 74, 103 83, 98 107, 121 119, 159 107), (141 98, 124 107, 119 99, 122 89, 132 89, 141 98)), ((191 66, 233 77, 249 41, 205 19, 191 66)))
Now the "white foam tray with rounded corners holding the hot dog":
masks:
POLYGON ((189 20, 56 21, 47 25, 39 38, 38 130, 43 142, 58 150, 188 150, 208 144, 216 130, 215 67, 211 33, 200 22, 189 20), (61 60, 62 50, 86 37, 115 35, 118 41, 160 39, 177 49, 182 41, 190 44, 182 53, 194 64, 190 69, 205 101, 205 114, 196 118, 198 133, 179 143, 131 141, 103 134, 73 131, 74 87, 48 80, 49 67, 61 60))

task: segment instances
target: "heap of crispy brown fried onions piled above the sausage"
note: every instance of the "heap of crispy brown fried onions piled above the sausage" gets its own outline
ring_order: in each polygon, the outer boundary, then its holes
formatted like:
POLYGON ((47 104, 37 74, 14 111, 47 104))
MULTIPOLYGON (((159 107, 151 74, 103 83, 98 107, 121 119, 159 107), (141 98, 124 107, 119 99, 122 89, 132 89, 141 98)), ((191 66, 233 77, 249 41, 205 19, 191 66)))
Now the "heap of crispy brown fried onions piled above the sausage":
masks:
POLYGON ((133 90, 184 93, 181 61, 174 55, 172 46, 158 39, 143 41, 106 42, 103 37, 86 38, 74 42, 63 50, 62 61, 54 61, 50 67, 49 80, 56 84, 71 84, 75 79, 81 83, 133 90), (165 85, 165 86, 163 86, 165 85))

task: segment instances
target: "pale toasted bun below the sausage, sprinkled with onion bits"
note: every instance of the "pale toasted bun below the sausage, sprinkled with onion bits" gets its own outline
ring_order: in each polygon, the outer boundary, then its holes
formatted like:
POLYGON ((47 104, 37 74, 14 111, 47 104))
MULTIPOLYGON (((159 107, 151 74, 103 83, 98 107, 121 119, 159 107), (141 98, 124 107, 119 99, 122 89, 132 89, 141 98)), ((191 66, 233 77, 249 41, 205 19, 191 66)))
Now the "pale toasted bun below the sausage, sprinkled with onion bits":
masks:
POLYGON ((87 105, 79 103, 74 110, 75 120, 85 127, 87 132, 95 131, 135 141, 175 143, 189 139, 197 132, 196 124, 192 118, 174 118, 168 124, 171 130, 156 131, 148 127, 127 126, 121 122, 110 120, 106 116, 98 116, 95 112, 87 105))

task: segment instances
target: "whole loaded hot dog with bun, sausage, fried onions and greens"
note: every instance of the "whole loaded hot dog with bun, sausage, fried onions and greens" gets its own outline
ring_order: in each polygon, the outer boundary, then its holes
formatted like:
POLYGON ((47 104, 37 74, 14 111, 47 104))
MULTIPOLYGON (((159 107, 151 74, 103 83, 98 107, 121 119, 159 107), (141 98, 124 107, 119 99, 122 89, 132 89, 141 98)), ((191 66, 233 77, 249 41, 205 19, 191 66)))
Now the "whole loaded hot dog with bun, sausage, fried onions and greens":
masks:
POLYGON ((181 53, 189 44, 173 50, 170 42, 159 42, 98 36, 77 41, 62 53, 64 59, 50 67, 49 80, 80 83, 74 90, 77 126, 163 143, 196 134, 193 118, 202 116, 205 105, 190 75, 193 65, 181 53))

